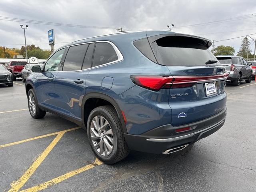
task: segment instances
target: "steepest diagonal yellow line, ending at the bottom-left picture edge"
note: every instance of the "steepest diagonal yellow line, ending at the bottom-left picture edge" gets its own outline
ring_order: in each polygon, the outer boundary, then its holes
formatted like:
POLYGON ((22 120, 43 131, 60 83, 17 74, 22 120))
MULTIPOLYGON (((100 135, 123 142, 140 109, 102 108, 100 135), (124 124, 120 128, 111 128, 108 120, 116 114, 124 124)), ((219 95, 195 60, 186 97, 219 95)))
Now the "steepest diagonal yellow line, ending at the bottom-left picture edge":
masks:
POLYGON ((12 182, 11 188, 8 192, 18 192, 20 188, 27 182, 30 176, 35 172, 38 166, 43 162, 46 156, 50 153, 50 151, 54 148, 54 146, 58 143, 60 138, 64 135, 65 132, 59 133, 54 140, 50 143, 50 145, 39 155, 39 157, 34 161, 34 163, 26 170, 26 172, 15 182, 12 182))

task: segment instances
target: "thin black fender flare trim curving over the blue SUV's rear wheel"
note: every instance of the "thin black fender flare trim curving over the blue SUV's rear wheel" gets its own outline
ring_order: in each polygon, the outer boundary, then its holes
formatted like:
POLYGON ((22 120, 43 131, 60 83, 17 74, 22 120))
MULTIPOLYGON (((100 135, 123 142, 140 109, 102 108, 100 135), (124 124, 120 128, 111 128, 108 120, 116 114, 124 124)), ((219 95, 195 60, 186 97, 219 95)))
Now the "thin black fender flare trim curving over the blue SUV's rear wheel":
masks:
POLYGON ((122 116, 122 111, 121 111, 120 107, 118 106, 117 102, 114 100, 114 98, 112 98, 104 93, 99 93, 99 92, 90 92, 90 93, 86 94, 82 100, 81 117, 82 117, 82 124, 85 128, 86 128, 86 125, 84 122, 84 109, 86 108, 86 106, 85 106, 86 101, 90 98, 99 98, 99 99, 103 99, 103 100, 110 102, 116 109, 116 112, 117 112, 118 118, 120 119, 120 122, 122 124, 122 129, 123 129, 124 133, 127 133, 126 125, 124 123, 124 118, 122 116))

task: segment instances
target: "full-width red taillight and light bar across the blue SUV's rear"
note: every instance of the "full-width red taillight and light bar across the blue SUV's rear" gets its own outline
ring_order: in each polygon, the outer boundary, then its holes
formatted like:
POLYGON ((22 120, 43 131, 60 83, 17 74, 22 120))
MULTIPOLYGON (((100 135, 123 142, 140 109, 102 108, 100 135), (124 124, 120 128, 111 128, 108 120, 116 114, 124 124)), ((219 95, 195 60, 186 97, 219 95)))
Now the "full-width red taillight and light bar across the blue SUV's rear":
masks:
POLYGON ((158 91, 161 88, 184 88, 191 87, 196 83, 207 80, 224 80, 228 73, 208 76, 158 76, 158 75, 132 75, 134 84, 146 89, 158 91))

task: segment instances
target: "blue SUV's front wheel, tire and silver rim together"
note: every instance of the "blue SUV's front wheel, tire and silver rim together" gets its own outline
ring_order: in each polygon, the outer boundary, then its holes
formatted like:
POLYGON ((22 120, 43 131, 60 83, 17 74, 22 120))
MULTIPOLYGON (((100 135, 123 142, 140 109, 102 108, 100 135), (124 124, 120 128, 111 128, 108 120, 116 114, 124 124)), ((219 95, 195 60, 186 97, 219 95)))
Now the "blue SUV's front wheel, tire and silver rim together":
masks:
POLYGON ((36 100, 36 95, 33 89, 30 89, 28 91, 28 110, 32 118, 35 118, 35 119, 43 118, 46 114, 45 111, 39 108, 38 102, 36 100))

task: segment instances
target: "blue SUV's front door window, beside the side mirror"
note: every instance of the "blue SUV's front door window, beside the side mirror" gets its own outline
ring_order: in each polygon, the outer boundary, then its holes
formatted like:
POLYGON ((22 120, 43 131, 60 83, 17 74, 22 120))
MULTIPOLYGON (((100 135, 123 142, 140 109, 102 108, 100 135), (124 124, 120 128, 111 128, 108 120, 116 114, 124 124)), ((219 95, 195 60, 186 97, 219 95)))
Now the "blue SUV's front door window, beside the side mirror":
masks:
POLYGON ((65 48, 58 50, 56 53, 54 53, 51 58, 46 62, 44 71, 58 71, 58 68, 60 66, 60 60, 62 58, 62 55, 64 54, 65 48))

